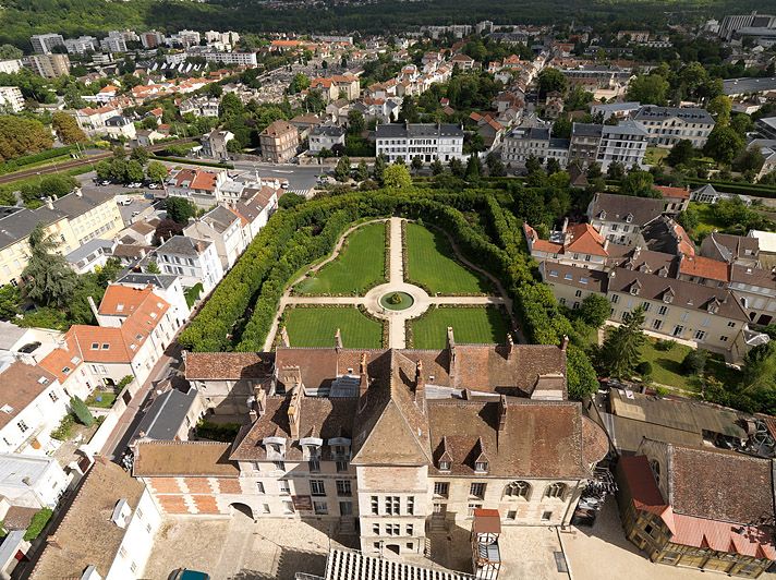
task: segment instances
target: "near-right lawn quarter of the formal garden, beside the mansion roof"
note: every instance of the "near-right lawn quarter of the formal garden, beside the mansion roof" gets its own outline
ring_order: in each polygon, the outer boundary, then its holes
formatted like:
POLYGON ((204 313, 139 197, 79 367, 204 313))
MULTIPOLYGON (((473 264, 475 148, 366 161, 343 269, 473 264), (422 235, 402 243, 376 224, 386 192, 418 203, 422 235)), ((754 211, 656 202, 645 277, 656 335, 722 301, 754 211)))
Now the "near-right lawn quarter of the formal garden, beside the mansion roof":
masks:
POLYGON ((415 349, 445 348, 448 326, 452 326, 458 345, 502 345, 507 340, 507 321, 493 306, 434 309, 410 324, 415 349))

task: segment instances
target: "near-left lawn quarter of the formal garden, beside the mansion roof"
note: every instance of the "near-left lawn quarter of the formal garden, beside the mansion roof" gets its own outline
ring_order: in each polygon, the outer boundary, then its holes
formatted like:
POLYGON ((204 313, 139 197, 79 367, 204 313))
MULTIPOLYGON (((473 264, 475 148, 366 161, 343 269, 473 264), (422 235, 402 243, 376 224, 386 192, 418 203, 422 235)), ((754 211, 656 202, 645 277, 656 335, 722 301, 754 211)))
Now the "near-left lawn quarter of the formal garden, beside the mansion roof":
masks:
POLYGON ((383 347, 383 325, 367 318, 357 309, 289 309, 283 316, 292 347, 334 347, 337 328, 345 348, 383 347))

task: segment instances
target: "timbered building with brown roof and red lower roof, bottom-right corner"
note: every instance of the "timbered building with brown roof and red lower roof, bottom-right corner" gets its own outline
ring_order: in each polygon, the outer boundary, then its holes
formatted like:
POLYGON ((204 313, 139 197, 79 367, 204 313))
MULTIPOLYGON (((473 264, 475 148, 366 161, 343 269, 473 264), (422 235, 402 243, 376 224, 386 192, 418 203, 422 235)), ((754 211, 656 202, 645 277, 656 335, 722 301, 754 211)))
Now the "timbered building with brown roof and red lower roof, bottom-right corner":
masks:
POLYGON ((771 460, 644 439, 617 475, 626 535, 652 561, 757 578, 776 560, 771 460))

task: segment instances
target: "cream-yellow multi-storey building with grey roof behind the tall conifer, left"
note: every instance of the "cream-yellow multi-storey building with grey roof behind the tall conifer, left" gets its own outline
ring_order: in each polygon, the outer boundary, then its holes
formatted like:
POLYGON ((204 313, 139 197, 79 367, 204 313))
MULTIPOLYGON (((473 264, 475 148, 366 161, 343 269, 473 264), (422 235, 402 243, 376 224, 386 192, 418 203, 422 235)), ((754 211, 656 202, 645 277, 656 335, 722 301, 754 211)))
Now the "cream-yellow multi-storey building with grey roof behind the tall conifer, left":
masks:
POLYGON ((37 209, 0 208, 0 285, 21 283, 29 253, 27 237, 41 222, 63 255, 92 239, 109 240, 123 227, 116 197, 101 190, 76 190, 37 209))

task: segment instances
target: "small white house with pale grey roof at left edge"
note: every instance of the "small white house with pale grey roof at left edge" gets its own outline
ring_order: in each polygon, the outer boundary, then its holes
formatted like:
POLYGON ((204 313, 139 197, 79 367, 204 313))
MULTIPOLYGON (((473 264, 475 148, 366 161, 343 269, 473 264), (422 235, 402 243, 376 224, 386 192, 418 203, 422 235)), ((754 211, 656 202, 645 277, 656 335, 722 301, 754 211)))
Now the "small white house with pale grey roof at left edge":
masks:
POLYGON ((0 495, 12 506, 54 508, 70 481, 53 458, 0 454, 0 495))

